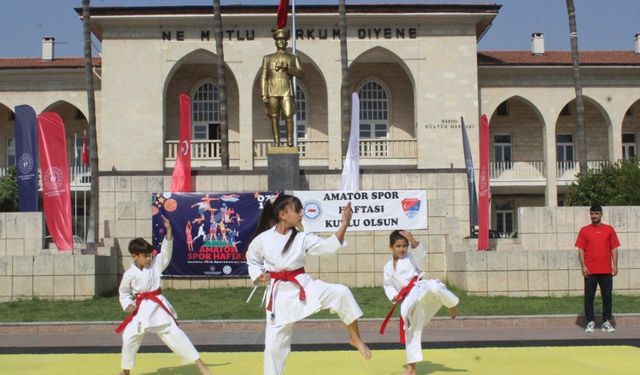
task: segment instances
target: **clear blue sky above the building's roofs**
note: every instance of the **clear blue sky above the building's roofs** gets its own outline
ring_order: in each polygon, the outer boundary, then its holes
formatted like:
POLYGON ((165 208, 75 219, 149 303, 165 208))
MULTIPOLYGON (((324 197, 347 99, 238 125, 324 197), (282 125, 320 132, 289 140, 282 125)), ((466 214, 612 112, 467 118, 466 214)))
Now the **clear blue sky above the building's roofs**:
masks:
MULTIPOLYGON (((480 41, 480 50, 528 50, 533 32, 545 34, 546 50, 570 49, 563 0, 347 0, 347 4, 376 2, 497 3, 502 9, 480 41)), ((82 22, 73 9, 81 7, 81 0, 0 0, 0 4, 0 57, 39 57, 43 36, 56 38, 56 56, 82 56, 82 22)), ((91 1, 95 7, 211 4, 211 0, 91 1)), ((278 0, 222 0, 222 4, 273 4, 275 12, 278 0)), ((337 4, 337 0, 296 4, 337 4)), ((640 0, 575 0, 575 5, 581 50, 633 50, 634 35, 640 33, 640 0)))

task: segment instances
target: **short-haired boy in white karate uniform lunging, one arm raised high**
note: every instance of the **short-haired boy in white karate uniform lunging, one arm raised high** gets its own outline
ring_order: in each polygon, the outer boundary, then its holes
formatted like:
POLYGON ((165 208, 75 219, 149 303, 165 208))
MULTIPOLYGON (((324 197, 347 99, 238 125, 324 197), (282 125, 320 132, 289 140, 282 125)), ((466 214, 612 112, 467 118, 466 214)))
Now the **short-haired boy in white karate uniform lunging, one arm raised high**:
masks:
POLYGON ((178 327, 175 310, 160 294, 160 276, 169 265, 173 253, 171 223, 164 216, 162 221, 167 234, 157 256, 151 254, 153 247, 143 238, 135 238, 129 242, 129 253, 133 262, 122 275, 119 292, 120 304, 130 314, 116 329, 116 333, 122 333, 120 375, 129 375, 146 332, 157 334, 183 363, 195 362, 200 374, 211 375, 196 348, 178 327))

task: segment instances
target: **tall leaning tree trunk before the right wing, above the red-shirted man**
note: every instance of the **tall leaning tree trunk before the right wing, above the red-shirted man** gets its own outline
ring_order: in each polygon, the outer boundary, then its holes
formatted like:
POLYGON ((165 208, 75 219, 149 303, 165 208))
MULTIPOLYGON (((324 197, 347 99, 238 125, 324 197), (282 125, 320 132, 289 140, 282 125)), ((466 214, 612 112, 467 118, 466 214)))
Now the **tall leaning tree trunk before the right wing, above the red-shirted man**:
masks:
POLYGON ((576 119, 578 135, 578 163, 580 174, 585 175, 587 169, 587 136, 584 124, 584 101, 582 100, 582 81, 580 79, 580 59, 578 57, 578 31, 576 27, 576 8, 573 0, 567 1, 569 14, 569 38, 571 39, 571 61, 573 62, 573 86, 576 91, 576 119))

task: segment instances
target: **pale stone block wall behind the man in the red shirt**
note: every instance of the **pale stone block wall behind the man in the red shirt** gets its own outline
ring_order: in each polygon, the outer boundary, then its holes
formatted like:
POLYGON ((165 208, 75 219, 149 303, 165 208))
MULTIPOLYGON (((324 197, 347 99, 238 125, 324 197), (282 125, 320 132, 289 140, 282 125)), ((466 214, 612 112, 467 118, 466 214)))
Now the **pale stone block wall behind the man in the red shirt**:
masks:
MULTIPOLYGON (((614 292, 640 295, 640 207, 605 207, 603 222, 613 225, 620 239, 614 292)), ((476 295, 582 295, 583 277, 578 231, 589 221, 588 207, 522 207, 518 210, 518 239, 492 242, 491 251, 448 253, 448 281, 476 295)), ((461 249, 458 249, 461 250, 461 249)))

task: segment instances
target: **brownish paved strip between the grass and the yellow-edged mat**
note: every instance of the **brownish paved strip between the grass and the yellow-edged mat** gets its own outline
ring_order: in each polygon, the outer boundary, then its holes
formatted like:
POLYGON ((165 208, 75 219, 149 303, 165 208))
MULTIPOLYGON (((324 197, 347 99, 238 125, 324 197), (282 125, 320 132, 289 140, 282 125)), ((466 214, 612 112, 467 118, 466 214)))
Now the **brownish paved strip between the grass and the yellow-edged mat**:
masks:
MULTIPOLYGON (((372 349, 401 349, 398 323, 392 320, 384 336, 380 319, 364 320, 361 334, 372 349)), ((436 318, 424 331, 424 348, 631 345, 640 347, 640 314, 616 316, 615 333, 586 334, 576 316, 436 318)), ((116 322, 0 324, 0 354, 119 352, 116 322)), ((183 321, 181 326, 200 351, 262 351, 263 321, 183 321)), ((347 332, 333 320, 305 320, 296 325, 294 350, 339 350, 347 347, 347 332)), ((168 349, 155 335, 145 338, 142 352, 168 349)))

